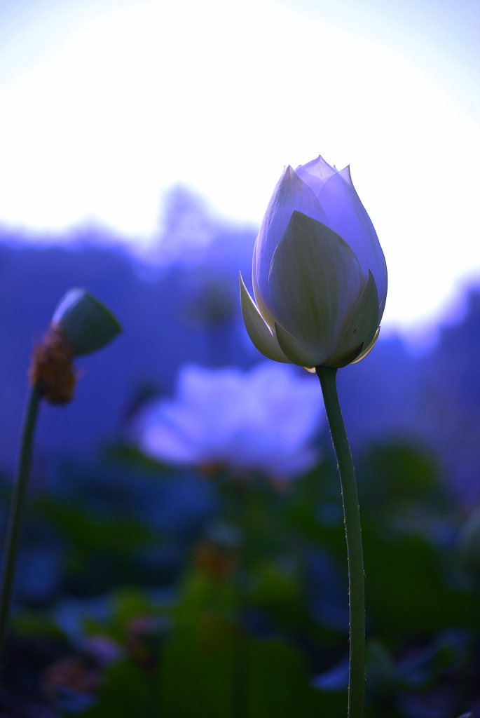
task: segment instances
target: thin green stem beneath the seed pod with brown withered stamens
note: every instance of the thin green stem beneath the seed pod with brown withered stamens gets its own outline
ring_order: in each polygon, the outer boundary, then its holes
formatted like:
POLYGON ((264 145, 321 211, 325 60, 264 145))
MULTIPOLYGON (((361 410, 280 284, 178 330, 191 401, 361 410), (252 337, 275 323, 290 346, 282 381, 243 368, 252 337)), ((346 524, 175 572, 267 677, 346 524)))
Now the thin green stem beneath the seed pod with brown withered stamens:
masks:
POLYGON ((32 442, 37 420, 37 412, 42 398, 42 391, 38 384, 30 389, 27 412, 24 418, 22 444, 20 447, 19 466, 15 477, 9 523, 6 530, 6 540, 3 560, 3 577, 0 597, 0 670, 3 668, 3 650, 6 634, 6 626, 9 620, 11 589, 14 583, 15 563, 19 546, 20 528, 22 524, 22 513, 27 493, 30 464, 32 462, 32 442))

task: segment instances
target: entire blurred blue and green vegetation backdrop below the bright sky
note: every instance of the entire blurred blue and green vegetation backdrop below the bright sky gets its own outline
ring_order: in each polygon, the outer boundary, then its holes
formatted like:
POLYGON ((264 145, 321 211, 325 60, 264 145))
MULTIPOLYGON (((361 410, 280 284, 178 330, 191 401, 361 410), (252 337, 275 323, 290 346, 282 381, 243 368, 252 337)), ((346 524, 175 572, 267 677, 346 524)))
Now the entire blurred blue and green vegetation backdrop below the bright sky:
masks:
MULTIPOLYGON (((195 209, 182 196, 165 225, 171 246, 195 209)), ((136 418, 174 396, 182 366, 263 360, 238 302, 255 234, 205 227, 207 248, 186 243, 168 266, 95 232, 72 248, 0 238, 2 536, 29 355, 55 304, 85 286, 123 325, 78 360, 75 401, 40 411, 0 716, 345 714, 347 560, 326 424, 320 462, 288 481, 227 462, 170 466, 136 443, 136 418)), ((371 718, 480 715, 480 531, 461 539, 480 504, 479 327, 471 289, 461 322, 427 354, 390 335, 339 370, 362 509, 371 718)))

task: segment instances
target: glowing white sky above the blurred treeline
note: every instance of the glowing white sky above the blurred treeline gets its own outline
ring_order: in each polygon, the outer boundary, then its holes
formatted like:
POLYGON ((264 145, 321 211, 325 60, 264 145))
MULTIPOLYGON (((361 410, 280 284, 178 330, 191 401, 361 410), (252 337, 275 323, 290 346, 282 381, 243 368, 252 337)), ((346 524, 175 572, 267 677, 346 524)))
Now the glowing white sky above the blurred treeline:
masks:
POLYGON ((411 24, 408 1, 19 5, 0 67, 2 224, 97 221, 147 246, 181 182, 258 225, 283 165, 321 153, 351 165, 380 237, 384 326, 436 317, 480 277, 474 4, 425 0, 411 24))

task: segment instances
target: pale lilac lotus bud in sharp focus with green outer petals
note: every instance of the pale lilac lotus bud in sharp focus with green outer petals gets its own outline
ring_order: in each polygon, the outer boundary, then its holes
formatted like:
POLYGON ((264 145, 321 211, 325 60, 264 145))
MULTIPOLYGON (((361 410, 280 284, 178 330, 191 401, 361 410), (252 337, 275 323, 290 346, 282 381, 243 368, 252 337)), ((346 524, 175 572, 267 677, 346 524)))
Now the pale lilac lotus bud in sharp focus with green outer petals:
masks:
POLYGON ((349 167, 287 167, 255 241, 253 293, 256 306, 240 278, 245 327, 268 358, 342 367, 369 353, 387 268, 349 167))

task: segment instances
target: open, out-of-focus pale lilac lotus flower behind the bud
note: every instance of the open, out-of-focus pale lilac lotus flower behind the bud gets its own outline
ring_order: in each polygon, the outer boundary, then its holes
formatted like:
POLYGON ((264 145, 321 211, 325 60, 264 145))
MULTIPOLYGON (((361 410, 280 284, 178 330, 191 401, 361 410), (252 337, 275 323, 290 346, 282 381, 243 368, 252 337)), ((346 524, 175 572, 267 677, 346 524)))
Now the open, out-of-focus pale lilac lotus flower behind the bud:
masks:
POLYGON ((141 448, 173 465, 224 465, 289 477, 319 460, 311 440, 323 416, 307 378, 274 364, 249 372, 189 365, 177 398, 147 407, 141 448))

